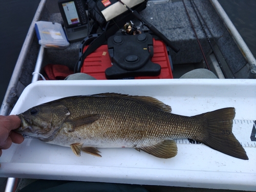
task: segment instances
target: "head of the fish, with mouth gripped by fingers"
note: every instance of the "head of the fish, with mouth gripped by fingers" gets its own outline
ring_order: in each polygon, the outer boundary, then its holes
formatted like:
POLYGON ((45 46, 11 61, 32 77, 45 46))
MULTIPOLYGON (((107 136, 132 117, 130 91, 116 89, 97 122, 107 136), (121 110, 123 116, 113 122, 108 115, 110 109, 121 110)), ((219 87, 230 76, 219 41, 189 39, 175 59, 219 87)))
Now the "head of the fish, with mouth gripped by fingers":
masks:
POLYGON ((63 104, 46 103, 34 106, 18 115, 21 126, 14 130, 24 136, 40 140, 50 140, 70 116, 68 108, 63 104))

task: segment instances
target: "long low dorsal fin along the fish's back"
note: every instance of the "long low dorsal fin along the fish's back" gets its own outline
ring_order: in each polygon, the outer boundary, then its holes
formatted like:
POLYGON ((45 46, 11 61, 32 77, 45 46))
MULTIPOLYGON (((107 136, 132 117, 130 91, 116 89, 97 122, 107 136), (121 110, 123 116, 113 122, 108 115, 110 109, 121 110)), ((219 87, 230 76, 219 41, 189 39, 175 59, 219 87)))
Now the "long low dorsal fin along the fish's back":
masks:
POLYGON ((154 97, 149 97, 149 96, 133 96, 133 95, 124 95, 124 94, 119 94, 119 93, 100 93, 100 94, 94 94, 91 96, 99 96, 99 97, 119 97, 119 98, 124 98, 124 99, 130 99, 130 100, 137 100, 137 101, 142 101, 147 105, 152 106, 153 108, 156 108, 158 110, 162 110, 164 112, 172 112, 172 108, 164 104, 162 101, 159 101, 158 99, 154 97))

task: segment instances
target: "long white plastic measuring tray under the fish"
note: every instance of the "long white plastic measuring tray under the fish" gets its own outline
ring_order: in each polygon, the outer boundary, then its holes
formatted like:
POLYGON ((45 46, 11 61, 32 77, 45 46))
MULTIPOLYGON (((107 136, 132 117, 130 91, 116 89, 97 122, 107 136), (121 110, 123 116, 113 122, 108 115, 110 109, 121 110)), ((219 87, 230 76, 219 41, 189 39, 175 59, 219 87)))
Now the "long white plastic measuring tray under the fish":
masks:
POLYGON ((242 142, 249 160, 187 140, 177 141, 177 156, 160 159, 133 148, 99 148, 101 158, 86 153, 76 157, 70 147, 25 139, 3 150, 0 177, 255 191, 256 141, 251 142, 256 122, 255 87, 254 79, 36 81, 23 91, 11 114, 61 97, 105 92, 152 96, 172 106, 172 113, 186 116, 233 106, 233 134, 242 142))

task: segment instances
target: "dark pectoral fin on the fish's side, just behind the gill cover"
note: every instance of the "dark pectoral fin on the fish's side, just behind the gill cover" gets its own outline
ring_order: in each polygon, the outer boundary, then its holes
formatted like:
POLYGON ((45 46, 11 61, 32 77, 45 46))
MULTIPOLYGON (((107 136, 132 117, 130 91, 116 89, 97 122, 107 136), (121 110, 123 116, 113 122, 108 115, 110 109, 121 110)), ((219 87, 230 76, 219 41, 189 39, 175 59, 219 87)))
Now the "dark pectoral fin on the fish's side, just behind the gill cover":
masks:
POLYGON ((63 123, 62 126, 65 127, 67 132, 74 132, 78 129, 81 129, 81 125, 87 125, 91 124, 99 119, 99 114, 89 114, 89 115, 83 115, 80 117, 76 117, 74 119, 68 119, 63 123))

